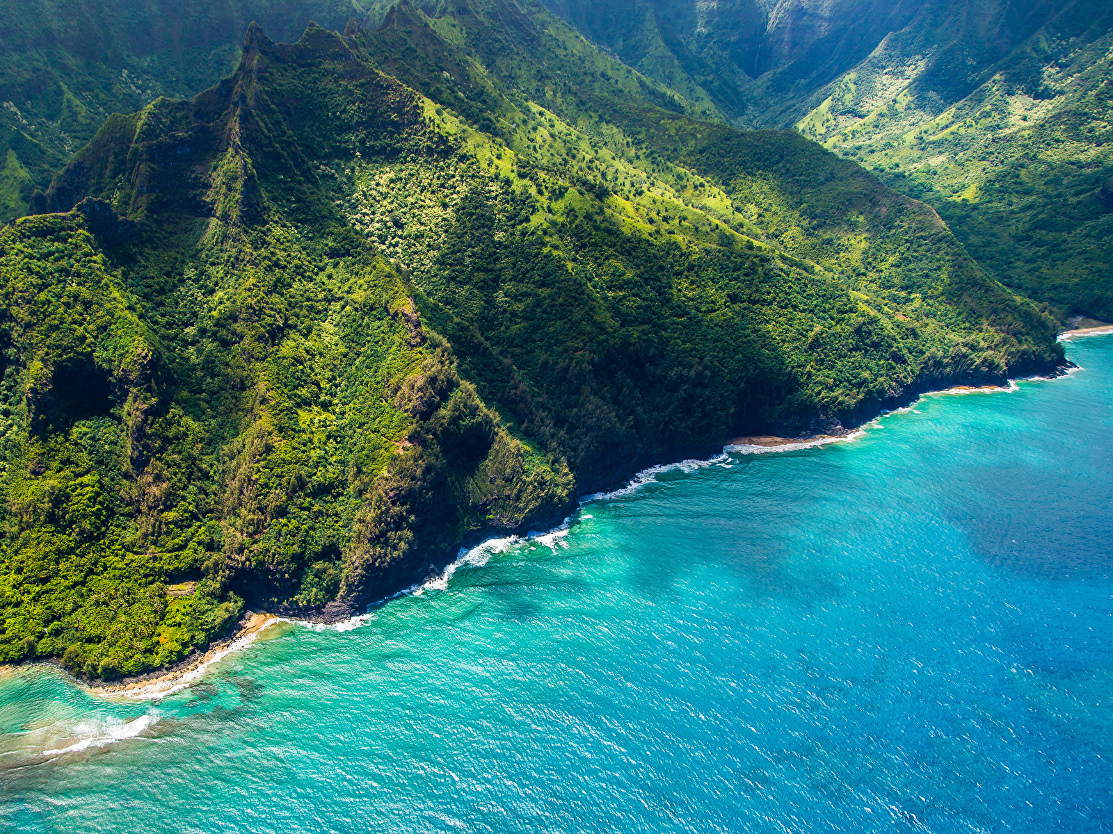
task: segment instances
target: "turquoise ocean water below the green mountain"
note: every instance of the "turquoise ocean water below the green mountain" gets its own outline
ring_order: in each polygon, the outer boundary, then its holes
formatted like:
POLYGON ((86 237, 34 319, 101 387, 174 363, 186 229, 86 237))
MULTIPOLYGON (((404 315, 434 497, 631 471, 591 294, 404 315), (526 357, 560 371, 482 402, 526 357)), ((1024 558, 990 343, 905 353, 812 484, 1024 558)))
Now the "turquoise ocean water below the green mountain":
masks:
POLYGON ((1111 831, 1113 337, 1068 356, 661 471, 161 702, 9 675, 0 827, 1111 831))

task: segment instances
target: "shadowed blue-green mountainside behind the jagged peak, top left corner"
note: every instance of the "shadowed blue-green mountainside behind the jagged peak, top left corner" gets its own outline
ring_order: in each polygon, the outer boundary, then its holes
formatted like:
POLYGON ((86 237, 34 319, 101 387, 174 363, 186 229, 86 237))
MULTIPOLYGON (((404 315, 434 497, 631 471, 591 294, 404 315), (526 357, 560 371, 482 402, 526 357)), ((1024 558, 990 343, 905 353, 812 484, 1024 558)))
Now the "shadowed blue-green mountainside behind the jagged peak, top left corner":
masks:
POLYGON ((0 0, 0 220, 114 112, 189 97, 233 71, 247 24, 294 40, 311 20, 344 26, 341 0, 0 0))

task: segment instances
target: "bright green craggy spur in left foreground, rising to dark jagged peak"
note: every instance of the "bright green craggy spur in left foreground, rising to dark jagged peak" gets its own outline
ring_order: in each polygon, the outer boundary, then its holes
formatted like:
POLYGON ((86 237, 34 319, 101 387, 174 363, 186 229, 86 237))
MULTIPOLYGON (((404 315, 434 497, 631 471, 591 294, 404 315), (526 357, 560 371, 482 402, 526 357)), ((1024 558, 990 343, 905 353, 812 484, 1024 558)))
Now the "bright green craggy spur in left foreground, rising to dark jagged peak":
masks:
MULTIPOLYGON (((110 120, 49 195, 110 202, 3 231, 4 659, 62 655, 95 676, 165 665, 243 597, 351 606, 469 529, 516 528, 570 497, 563 461, 460 380, 398 272, 312 202, 315 175, 287 156, 297 115, 267 119, 289 79, 259 89, 254 61, 190 105, 110 120), (188 579, 191 596, 167 596, 188 579)), ((374 70, 332 90, 352 120, 334 112, 332 135, 302 122, 321 152, 445 152, 412 93, 374 70)))

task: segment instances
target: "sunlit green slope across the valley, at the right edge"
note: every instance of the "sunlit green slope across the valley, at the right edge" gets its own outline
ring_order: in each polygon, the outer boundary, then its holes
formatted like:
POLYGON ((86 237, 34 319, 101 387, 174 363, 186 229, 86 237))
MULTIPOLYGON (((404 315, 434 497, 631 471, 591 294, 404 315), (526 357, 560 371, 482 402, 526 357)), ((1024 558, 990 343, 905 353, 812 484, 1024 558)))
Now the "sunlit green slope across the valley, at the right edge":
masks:
POLYGON ((939 68, 894 83, 893 46, 800 129, 929 203, 978 264, 1061 320, 1113 318, 1111 27, 1107 4, 1067 4, 944 96, 939 68))

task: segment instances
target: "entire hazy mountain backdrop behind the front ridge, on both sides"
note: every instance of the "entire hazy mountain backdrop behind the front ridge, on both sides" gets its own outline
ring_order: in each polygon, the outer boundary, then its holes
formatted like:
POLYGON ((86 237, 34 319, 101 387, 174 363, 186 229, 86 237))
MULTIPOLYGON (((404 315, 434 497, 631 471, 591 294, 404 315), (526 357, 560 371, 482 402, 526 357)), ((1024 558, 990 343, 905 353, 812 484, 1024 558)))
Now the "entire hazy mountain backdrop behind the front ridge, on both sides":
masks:
MULTIPOLYGON (((434 20, 469 13, 444 0, 417 6, 434 20)), ((355 16, 375 29, 392 8, 126 0, 106 13, 85 2, 9 3, 0 219, 30 211, 35 189, 109 113, 219 80, 249 20, 293 40, 311 20, 341 30, 355 16)), ((930 205, 983 268, 1061 321, 1113 317, 1113 199, 1102 197, 1113 192, 1103 127, 1111 12, 1101 0, 552 0, 563 27, 526 0, 498 9, 518 33, 561 32, 562 58, 599 64, 592 86, 605 66, 618 67, 613 78, 633 68, 638 95, 656 106, 738 127, 795 126, 930 205), (595 48, 581 48, 578 33, 595 48)), ((484 67, 513 73, 505 57, 477 49, 469 47, 476 60, 493 61, 484 67)), ((582 67, 569 68, 564 83, 583 82, 582 67)), ((609 96, 583 100, 585 118, 613 106, 609 96)))

